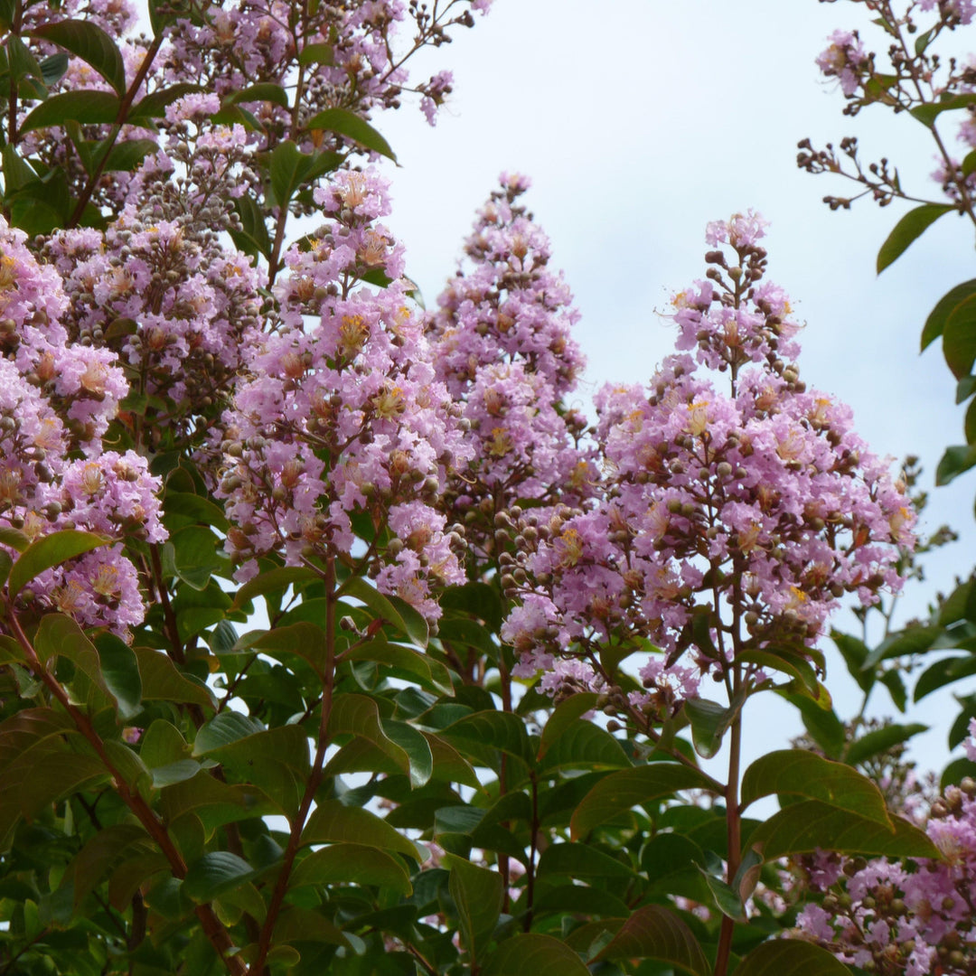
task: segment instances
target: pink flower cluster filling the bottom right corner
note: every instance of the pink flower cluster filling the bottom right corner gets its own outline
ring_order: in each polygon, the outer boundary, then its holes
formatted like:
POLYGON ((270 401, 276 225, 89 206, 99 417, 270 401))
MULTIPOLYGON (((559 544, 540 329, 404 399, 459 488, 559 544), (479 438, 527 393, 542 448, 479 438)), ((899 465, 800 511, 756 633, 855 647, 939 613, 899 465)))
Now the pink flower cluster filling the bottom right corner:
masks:
MULTIPOLYGON (((970 726, 970 731, 973 725, 970 726)), ((966 751, 976 753, 970 738, 966 751)), ((804 906, 796 935, 841 961, 882 976, 966 976, 976 964, 976 783, 949 787, 933 804, 926 833, 941 860, 822 857, 810 875, 827 892, 804 906)))

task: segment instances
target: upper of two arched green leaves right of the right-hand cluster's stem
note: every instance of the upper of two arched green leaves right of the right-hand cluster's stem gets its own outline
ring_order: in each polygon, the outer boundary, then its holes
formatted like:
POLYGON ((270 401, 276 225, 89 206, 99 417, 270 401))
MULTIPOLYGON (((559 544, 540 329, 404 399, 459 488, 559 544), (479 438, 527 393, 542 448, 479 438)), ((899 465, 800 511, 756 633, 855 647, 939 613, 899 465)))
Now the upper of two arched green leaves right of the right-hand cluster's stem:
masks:
POLYGON ((884 797, 871 780, 815 752, 777 750, 756 759, 742 778, 743 809, 774 793, 819 799, 885 827, 891 823, 884 797))

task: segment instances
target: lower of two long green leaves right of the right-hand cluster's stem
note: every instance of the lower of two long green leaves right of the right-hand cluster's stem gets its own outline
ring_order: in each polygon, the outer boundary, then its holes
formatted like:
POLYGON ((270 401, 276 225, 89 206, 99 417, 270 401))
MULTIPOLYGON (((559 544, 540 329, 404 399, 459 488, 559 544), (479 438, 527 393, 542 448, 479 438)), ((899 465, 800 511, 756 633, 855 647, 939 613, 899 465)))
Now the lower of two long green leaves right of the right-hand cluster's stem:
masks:
POLYGON ((886 857, 938 858, 938 848, 917 827, 892 818, 894 830, 816 799, 791 803, 760 824, 745 847, 766 861, 816 850, 886 857))

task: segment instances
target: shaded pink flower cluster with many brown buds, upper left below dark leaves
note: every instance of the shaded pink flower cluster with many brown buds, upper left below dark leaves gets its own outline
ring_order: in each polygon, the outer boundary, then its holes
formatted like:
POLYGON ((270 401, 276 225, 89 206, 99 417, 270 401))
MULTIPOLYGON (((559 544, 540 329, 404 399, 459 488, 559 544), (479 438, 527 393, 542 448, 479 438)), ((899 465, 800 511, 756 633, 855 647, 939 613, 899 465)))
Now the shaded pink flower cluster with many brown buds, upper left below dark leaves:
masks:
POLYGON ((165 425, 186 423, 227 391, 258 328, 264 274, 218 234, 226 198, 245 188, 235 177, 243 140, 240 127, 215 127, 192 148, 177 142, 180 189, 170 159, 149 157, 106 231, 62 230, 42 250, 69 299, 61 321, 70 338, 117 353, 135 391, 164 398, 156 419, 165 425))

